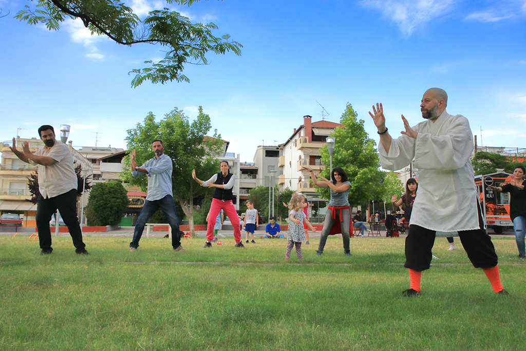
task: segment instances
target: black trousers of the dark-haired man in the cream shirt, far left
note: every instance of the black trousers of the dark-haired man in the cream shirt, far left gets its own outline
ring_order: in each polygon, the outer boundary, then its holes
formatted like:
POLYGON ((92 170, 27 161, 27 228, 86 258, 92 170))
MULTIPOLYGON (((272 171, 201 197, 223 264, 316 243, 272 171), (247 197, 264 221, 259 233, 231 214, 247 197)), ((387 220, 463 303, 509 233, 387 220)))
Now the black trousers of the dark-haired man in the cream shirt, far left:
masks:
MULTIPOLYGON (((82 230, 80 230, 77 217, 77 190, 71 189, 67 193, 49 198, 39 195, 37 201, 36 226, 38 228, 40 248, 46 251, 53 250, 51 247, 49 221, 58 209, 60 216, 62 216, 64 223, 69 229, 69 235, 73 239, 76 252, 83 252, 86 245, 82 242, 82 230)), ((58 218, 56 218, 56 223, 58 223, 58 218)))

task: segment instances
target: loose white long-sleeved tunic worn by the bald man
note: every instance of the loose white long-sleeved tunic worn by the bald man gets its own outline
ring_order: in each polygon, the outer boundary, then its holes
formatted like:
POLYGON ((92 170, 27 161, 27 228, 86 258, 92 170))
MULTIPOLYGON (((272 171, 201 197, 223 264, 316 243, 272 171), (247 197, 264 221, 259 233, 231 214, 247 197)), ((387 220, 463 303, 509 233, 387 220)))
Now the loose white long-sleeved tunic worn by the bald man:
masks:
POLYGON ((380 143, 380 164, 397 171, 410 164, 418 168, 418 191, 410 224, 440 232, 479 228, 477 187, 471 153, 473 134, 468 119, 445 110, 433 123, 412 127, 416 139, 392 139, 389 154, 380 143))

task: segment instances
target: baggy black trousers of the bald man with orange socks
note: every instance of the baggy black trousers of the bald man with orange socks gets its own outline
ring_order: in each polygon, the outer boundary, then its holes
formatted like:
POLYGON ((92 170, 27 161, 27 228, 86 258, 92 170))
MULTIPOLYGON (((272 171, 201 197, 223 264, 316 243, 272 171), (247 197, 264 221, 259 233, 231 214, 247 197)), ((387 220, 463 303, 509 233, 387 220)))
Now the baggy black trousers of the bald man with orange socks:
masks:
MULTIPOLYGON (((459 233, 460 242, 468 254, 468 258, 475 268, 490 268, 498 264, 498 257, 491 237, 486 234, 484 222, 479 210, 479 229, 462 230, 459 233)), ((429 269, 432 259, 431 249, 434 245, 436 231, 420 227, 409 226, 409 234, 406 238, 406 264, 404 267, 414 270, 429 269)))

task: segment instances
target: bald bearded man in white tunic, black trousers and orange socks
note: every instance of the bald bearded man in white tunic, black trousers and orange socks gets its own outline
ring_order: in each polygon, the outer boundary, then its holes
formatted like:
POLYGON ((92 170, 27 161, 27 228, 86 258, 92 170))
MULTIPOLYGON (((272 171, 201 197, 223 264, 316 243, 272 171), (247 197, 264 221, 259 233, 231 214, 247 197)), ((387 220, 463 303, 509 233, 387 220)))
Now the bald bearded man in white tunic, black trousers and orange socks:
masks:
POLYGON ((437 231, 458 232, 473 266, 484 270, 495 293, 508 295, 500 282, 498 257, 480 213, 471 165, 473 134, 466 117, 446 112, 447 103, 443 89, 428 89, 420 104, 427 121, 410 127, 402 115, 406 131, 398 139, 392 139, 387 132, 382 104, 373 105, 373 113, 369 112, 380 135, 382 167, 396 171, 414 159, 418 169, 418 194, 406 238, 404 265, 409 268, 411 285, 403 295, 419 295, 422 270, 429 269, 437 231))

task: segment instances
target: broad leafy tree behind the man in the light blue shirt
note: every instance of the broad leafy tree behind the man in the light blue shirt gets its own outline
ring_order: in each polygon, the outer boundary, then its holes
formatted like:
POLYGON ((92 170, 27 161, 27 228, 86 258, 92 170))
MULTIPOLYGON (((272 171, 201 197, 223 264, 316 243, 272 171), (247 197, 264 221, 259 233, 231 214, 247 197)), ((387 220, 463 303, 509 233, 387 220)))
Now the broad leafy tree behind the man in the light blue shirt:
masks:
MULTIPOLYGON (((219 162, 215 156, 221 154, 224 145, 217 131, 214 132, 214 137, 207 137, 210 129, 210 117, 203 113, 203 107, 199 106, 199 114, 191 123, 183 111, 175 108, 159 122, 155 121, 153 113, 148 113, 144 124, 138 123, 135 129, 129 129, 126 137, 128 149, 136 149, 138 165, 155 156, 151 151, 151 142, 154 139, 163 141, 164 153, 171 158, 174 165, 171 174, 174 200, 179 202, 188 217, 192 234, 194 234, 194 200, 203 199, 204 195, 213 192, 213 189, 201 187, 192 179, 192 169, 196 170, 198 177, 205 180, 219 172, 219 162)), ((121 173, 121 179, 132 185, 139 185, 143 191, 146 191, 147 177, 132 176, 129 166, 130 161, 127 156, 124 159, 124 169, 128 172, 121 173)))

